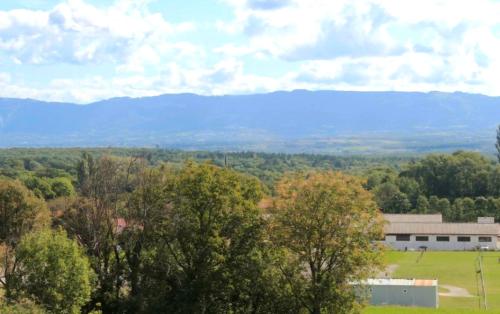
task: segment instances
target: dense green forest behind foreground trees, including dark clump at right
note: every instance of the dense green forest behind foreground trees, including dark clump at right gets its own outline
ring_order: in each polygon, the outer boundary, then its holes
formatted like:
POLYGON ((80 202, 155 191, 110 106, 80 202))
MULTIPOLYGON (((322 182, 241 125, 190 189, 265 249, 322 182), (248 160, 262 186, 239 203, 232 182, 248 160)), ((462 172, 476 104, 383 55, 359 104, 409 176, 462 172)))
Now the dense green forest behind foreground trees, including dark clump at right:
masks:
POLYGON ((180 167, 187 160, 257 177, 267 194, 286 173, 340 170, 366 180, 379 207, 390 213, 437 213, 448 221, 474 221, 477 216, 500 220, 500 165, 490 156, 453 154, 333 156, 310 154, 188 152, 164 149, 4 149, 0 175, 23 182, 49 204, 75 195, 77 164, 82 152, 99 158, 144 160, 149 166, 180 167), (53 200, 53 201, 51 201, 53 200))

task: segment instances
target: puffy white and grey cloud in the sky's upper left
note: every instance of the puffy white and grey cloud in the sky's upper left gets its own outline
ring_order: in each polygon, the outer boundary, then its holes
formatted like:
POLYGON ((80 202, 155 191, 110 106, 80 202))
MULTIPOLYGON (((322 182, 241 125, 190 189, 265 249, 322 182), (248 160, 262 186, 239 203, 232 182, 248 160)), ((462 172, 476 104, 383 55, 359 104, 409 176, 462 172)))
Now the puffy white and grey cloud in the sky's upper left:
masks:
POLYGON ((171 39, 194 28, 149 12, 147 1, 121 0, 97 8, 67 0, 49 11, 0 11, 0 48, 19 63, 111 62, 141 70, 166 54, 197 53, 193 45, 171 39))

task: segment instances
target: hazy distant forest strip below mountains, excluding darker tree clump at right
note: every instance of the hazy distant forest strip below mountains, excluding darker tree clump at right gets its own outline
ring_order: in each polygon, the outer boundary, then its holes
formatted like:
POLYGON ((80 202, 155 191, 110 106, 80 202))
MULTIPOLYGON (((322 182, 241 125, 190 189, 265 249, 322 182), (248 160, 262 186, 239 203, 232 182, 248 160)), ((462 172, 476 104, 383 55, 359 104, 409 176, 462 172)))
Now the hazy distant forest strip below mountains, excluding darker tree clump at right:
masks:
POLYGON ((82 152, 94 159, 103 156, 141 158, 150 166, 168 163, 182 167, 187 160, 212 162, 238 172, 259 178, 272 190, 280 177, 291 171, 308 170, 344 170, 359 173, 378 166, 399 169, 404 163, 415 160, 418 156, 335 156, 313 154, 283 154, 255 152, 204 152, 179 151, 168 149, 142 148, 47 148, 47 149, 0 149, 0 175, 11 178, 30 173, 39 178, 68 177, 75 180, 77 164, 82 152), (33 165, 37 165, 35 168, 33 165))

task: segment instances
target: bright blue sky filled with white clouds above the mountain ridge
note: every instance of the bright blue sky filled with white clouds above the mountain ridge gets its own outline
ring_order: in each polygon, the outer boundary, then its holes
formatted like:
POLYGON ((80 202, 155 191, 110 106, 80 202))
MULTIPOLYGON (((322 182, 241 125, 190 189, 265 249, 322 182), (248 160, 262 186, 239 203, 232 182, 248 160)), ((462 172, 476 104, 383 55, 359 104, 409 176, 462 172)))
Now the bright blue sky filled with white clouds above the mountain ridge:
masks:
POLYGON ((0 1, 0 97, 500 95, 500 0, 0 1))

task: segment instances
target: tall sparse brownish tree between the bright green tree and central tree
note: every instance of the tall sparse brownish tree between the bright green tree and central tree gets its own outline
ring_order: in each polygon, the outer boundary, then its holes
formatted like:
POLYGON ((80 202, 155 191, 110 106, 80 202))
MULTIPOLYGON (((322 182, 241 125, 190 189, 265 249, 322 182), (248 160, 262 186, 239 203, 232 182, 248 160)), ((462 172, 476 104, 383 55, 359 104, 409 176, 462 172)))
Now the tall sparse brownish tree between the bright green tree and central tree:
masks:
POLYGON ((63 213, 60 224, 85 247, 97 274, 97 289, 89 309, 119 311, 125 285, 125 257, 117 223, 133 191, 136 160, 84 154, 78 165, 80 197, 63 213))

